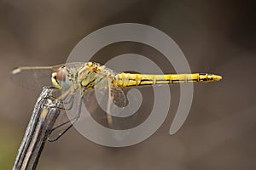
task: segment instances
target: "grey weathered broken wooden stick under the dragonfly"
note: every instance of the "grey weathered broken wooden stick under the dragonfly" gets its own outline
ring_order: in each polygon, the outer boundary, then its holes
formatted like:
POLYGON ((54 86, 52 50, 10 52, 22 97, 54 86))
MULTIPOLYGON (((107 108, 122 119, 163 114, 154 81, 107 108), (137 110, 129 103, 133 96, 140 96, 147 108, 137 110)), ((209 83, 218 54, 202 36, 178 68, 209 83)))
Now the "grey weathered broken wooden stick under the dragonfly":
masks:
POLYGON ((55 102, 54 99, 49 98, 53 91, 53 88, 44 88, 38 97, 31 120, 20 144, 13 170, 30 170, 37 167, 45 141, 48 139, 50 130, 60 113, 55 107, 48 106, 55 102))

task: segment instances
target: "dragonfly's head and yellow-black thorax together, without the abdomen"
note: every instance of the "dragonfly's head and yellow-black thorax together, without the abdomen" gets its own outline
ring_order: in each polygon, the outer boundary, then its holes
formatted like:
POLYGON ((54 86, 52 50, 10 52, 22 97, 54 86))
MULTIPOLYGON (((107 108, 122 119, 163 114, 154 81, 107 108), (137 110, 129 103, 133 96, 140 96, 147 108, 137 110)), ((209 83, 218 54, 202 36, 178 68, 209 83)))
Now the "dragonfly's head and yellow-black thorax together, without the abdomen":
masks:
POLYGON ((88 62, 79 68, 61 66, 52 73, 51 82, 55 88, 67 90, 71 87, 106 88, 113 82, 113 72, 104 65, 88 62))

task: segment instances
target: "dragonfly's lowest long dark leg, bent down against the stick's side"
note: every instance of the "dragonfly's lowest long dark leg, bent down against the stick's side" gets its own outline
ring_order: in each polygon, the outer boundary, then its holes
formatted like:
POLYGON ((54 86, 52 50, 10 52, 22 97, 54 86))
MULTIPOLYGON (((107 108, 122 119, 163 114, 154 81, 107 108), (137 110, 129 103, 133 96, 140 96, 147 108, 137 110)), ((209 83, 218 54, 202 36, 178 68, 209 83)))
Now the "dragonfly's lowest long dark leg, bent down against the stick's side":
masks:
POLYGON ((80 117, 80 115, 81 115, 82 100, 83 100, 82 98, 79 100, 79 108, 78 108, 78 111, 77 111, 77 113, 76 113, 76 116, 73 117, 73 119, 68 120, 67 122, 63 122, 63 123, 61 123, 60 125, 58 125, 57 127, 54 127, 54 128, 51 130, 51 133, 54 132, 57 128, 60 128, 60 127, 62 127, 62 126, 64 126, 64 125, 66 125, 67 123, 71 123, 71 124, 70 124, 66 129, 64 129, 61 133, 59 133, 58 136, 55 137, 54 139, 48 139, 49 142, 54 142, 54 141, 56 141, 57 139, 60 139, 61 136, 62 136, 63 134, 65 134, 65 133, 67 133, 67 131, 68 131, 71 127, 73 127, 73 124, 79 120, 79 117, 80 117))

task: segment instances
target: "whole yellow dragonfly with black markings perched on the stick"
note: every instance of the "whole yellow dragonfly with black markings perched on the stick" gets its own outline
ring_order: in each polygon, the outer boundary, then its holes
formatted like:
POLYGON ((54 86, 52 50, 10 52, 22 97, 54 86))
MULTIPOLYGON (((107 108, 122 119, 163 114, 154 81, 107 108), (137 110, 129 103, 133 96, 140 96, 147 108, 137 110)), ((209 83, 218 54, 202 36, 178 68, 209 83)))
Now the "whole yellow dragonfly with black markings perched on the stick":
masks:
MULTIPOLYGON (((12 72, 12 81, 26 88, 52 87, 61 91, 56 100, 67 99, 70 107, 73 107, 74 94, 79 92, 79 105, 76 116, 61 125, 54 127, 52 131, 68 122, 72 122, 64 131, 58 134, 59 139, 73 123, 79 120, 81 105, 84 99, 88 100, 90 91, 108 89, 108 101, 114 105, 125 107, 127 99, 125 88, 152 86, 154 84, 177 84, 186 82, 218 82, 221 76, 207 73, 190 74, 140 74, 132 72, 115 73, 105 65, 96 62, 74 62, 54 66, 23 66, 15 68, 12 72)), ((113 124, 113 116, 107 106, 108 124, 113 124)))

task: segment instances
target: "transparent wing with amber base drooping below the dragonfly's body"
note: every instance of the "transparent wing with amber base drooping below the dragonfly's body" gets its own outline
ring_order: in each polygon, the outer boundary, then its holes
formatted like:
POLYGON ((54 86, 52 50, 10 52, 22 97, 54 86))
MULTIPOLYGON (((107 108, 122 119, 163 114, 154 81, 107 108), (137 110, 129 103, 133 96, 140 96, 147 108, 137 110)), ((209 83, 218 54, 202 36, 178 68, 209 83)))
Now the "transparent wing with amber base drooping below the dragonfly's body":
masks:
POLYGON ((136 96, 126 94, 125 88, 102 88, 90 90, 84 94, 86 110, 94 120, 104 127, 129 129, 137 126, 136 113, 139 108, 136 96), (109 95, 110 92, 110 95, 109 95), (109 121, 109 116, 111 121, 109 121))

